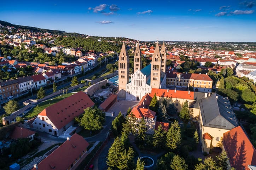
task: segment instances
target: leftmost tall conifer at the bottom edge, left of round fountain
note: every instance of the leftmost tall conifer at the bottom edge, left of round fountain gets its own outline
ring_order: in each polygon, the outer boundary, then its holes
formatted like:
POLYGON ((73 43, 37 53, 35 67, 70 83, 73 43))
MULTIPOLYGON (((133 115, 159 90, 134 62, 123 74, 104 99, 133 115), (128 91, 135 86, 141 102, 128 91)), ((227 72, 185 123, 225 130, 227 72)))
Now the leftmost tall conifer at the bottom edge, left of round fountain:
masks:
POLYGON ((111 168, 123 168, 123 158, 125 155, 126 151, 124 150, 122 141, 119 137, 116 137, 107 154, 107 165, 111 168))

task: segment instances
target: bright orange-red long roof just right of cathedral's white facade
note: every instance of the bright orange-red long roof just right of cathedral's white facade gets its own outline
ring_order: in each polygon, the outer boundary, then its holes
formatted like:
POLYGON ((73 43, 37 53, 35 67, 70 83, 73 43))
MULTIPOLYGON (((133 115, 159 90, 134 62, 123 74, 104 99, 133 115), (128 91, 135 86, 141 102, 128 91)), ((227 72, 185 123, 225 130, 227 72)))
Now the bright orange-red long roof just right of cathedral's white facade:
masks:
POLYGON ((171 98, 182 98, 182 99, 194 99, 194 92, 191 91, 188 94, 188 91, 181 91, 181 90, 169 90, 168 89, 154 89, 152 88, 150 96, 153 97, 156 93, 158 97, 171 97, 171 98))

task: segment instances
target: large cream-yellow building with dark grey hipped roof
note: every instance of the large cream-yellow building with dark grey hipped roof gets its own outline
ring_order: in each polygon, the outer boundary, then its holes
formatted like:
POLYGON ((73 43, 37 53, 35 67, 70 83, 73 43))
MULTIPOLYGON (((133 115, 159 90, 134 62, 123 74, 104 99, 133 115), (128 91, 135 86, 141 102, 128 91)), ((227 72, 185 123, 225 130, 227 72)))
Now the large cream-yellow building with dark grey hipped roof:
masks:
POLYGON ((210 152, 214 147, 222 148, 222 135, 239 126, 232 106, 226 97, 216 93, 197 101, 199 108, 199 138, 202 152, 210 152))

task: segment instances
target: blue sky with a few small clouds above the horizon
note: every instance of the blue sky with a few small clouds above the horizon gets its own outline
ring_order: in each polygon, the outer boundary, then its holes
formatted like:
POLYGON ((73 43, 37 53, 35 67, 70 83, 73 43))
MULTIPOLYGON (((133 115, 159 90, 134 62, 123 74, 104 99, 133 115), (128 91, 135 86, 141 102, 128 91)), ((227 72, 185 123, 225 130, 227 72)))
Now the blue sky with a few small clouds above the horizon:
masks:
POLYGON ((139 41, 256 42, 256 0, 1 1, 17 25, 139 41))

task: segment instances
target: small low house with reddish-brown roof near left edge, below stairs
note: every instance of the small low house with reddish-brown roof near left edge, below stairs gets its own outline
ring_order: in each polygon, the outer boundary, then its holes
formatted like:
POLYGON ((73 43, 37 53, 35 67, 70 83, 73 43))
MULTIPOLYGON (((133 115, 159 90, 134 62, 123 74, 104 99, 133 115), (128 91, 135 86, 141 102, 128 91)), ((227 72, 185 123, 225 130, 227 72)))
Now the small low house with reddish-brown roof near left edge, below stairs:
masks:
POLYGON ((34 140, 35 131, 29 130, 27 128, 16 126, 12 131, 10 136, 11 139, 18 140, 20 138, 28 138, 29 141, 34 140))

